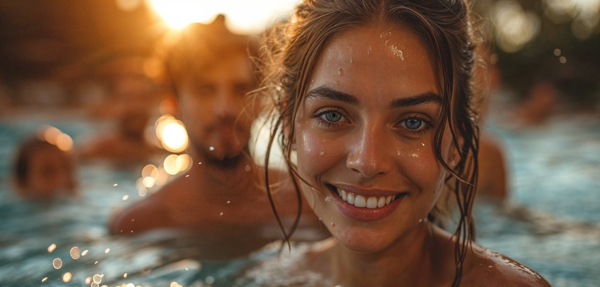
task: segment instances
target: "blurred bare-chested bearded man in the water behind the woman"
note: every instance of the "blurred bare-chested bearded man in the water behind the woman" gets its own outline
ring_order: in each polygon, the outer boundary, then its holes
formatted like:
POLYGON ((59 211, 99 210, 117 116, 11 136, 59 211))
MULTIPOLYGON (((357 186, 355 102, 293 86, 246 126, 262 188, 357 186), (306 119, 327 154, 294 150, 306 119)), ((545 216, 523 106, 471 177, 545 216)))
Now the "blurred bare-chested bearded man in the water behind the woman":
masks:
MULTIPOLYGON (((283 238, 263 188, 264 170, 254 164, 248 147, 259 110, 258 100, 245 96, 257 86, 248 52, 256 54, 256 44, 228 31, 223 16, 210 25, 187 26, 169 48, 166 70, 194 163, 186 176, 113 216, 110 232, 137 234, 161 228, 202 232, 197 243, 209 258, 243 255, 283 238), (210 236, 205 236, 208 232, 210 236)), ((280 182, 287 179, 280 174, 269 182, 280 185, 274 201, 281 220, 290 223, 299 212, 299 197, 291 183, 280 182)), ((307 216, 301 229, 315 231, 308 236, 312 240, 327 237, 308 204, 303 206, 307 216)))

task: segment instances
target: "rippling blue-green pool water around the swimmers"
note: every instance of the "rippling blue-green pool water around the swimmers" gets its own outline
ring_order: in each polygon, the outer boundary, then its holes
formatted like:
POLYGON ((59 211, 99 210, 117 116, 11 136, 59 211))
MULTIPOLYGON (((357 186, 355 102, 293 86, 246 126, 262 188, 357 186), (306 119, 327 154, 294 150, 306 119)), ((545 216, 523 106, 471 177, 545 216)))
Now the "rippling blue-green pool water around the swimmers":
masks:
MULTIPOLYGON (((41 123, 46 122, 0 123, 0 286, 89 286, 85 279, 94 274, 104 274, 100 285, 109 286, 229 286, 227 279, 251 263, 198 261, 193 238, 172 232, 107 235, 112 210, 142 199, 134 186, 142 166, 82 165, 79 200, 15 198, 10 186, 14 149, 41 123), (57 247, 48 253, 52 243, 57 247), (89 252, 72 259, 73 246, 89 252), (55 258, 63 262, 58 270, 52 267, 55 258), (73 279, 65 283, 61 278, 67 271, 73 279)), ((50 124, 76 144, 78 135, 98 128, 86 120, 50 124)), ((513 204, 478 204, 478 243, 529 265, 555 287, 600 286, 600 122, 554 119, 535 129, 491 129, 508 150, 513 204)))

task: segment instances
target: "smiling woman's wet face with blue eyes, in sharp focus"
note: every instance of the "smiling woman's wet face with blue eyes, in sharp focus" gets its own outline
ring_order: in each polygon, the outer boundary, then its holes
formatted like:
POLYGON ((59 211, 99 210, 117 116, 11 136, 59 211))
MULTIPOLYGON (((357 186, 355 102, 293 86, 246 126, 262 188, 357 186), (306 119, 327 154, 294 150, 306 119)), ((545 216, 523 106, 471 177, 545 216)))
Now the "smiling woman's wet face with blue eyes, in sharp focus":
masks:
MULTIPOLYGON (((404 28, 339 34, 322 50, 307 91, 293 143, 317 216, 356 252, 416 232, 446 175, 433 151, 442 98, 423 41, 404 28)), ((450 146, 445 137, 446 162, 450 146)))

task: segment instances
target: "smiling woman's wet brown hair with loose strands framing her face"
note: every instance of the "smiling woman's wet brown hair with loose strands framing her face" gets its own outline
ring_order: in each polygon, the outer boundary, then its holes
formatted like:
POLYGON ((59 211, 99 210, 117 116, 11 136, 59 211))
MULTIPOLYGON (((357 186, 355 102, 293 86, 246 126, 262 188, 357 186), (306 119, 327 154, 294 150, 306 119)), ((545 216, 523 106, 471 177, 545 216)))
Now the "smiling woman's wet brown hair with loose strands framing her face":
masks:
MULTIPOLYGON (((475 232, 471 210, 477 181, 479 105, 473 92, 476 44, 469 14, 470 8, 463 0, 305 0, 295 8, 287 23, 275 26, 262 47, 263 65, 266 65, 263 91, 272 95, 269 103, 272 133, 265 159, 265 177, 268 182, 270 150, 277 140, 283 147, 284 159, 298 193, 298 217, 301 210, 298 180, 302 179, 290 161, 290 143, 295 133, 293 119, 299 103, 304 101, 308 81, 326 43, 353 28, 398 25, 412 29, 430 47, 443 98, 440 124, 434 135, 434 152, 450 174, 446 178, 446 189, 454 193, 460 213, 454 233, 457 238, 456 273, 452 286, 460 283, 467 248, 475 232), (442 157, 446 124, 460 156, 454 167, 442 157), (282 129, 286 132, 278 132, 282 129)), ((271 199, 271 189, 268 185, 266 188, 271 199)), ((444 201, 441 197, 428 215, 428 219, 438 225, 447 216, 444 201)), ((277 216, 277 210, 274 209, 274 213, 277 216)), ((286 240, 298 220, 296 218, 289 232, 279 222, 286 240)))

